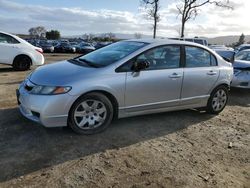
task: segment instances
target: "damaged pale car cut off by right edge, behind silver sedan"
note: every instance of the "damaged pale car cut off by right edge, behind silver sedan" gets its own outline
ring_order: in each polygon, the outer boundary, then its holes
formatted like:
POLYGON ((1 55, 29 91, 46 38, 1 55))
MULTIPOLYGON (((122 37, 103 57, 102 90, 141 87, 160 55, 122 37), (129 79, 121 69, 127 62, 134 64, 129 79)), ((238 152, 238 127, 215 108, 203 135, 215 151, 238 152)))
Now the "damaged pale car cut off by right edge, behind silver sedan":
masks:
POLYGON ((231 86, 250 89, 250 49, 235 55, 233 67, 234 77, 231 86))

